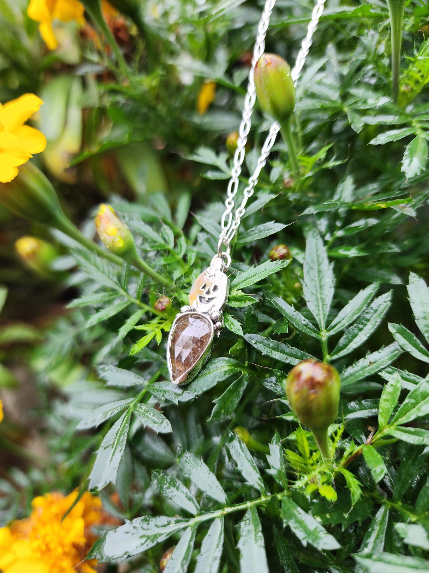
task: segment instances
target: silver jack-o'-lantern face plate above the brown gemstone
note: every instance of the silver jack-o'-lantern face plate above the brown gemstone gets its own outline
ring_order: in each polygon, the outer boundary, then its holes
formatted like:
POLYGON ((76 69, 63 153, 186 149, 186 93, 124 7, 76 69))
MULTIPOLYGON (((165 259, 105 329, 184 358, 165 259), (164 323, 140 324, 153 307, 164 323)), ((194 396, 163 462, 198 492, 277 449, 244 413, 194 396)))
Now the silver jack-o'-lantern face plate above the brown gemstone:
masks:
POLYGON ((221 270, 209 266, 190 289, 189 305, 193 311, 220 311, 227 299, 228 278, 221 270))

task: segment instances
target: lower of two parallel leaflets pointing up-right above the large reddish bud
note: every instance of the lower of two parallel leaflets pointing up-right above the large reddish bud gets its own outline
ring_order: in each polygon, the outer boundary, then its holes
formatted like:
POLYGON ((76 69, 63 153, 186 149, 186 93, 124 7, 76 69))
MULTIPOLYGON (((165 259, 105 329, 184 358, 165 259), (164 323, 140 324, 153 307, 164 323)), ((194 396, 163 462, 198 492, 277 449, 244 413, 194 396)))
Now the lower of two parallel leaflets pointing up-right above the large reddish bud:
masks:
POLYGON ((392 291, 372 301, 355 324, 348 328, 331 352, 331 358, 341 358, 359 348, 376 331, 391 305, 392 291))

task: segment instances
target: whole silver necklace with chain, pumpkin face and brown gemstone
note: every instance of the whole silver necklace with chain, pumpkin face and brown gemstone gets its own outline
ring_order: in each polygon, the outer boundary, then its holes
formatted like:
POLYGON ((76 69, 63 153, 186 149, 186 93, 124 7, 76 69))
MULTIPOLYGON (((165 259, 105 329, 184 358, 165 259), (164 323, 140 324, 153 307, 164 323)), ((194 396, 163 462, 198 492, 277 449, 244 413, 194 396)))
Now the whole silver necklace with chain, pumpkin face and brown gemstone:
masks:
MULTIPOLYGON (((308 23, 307 36, 301 44, 296 64, 291 72, 295 85, 303 69, 305 58, 307 58, 325 1, 317 0, 313 9, 311 21, 308 23)), ((256 62, 265 50, 265 36, 275 3, 276 0, 265 1, 258 25, 237 149, 233 159, 232 176, 227 188, 226 209, 221 219, 222 230, 217 244, 217 254, 212 258, 209 268, 205 269, 192 285, 189 293, 189 305, 181 308, 181 312, 174 319, 169 333, 167 363, 170 379, 174 384, 186 384, 200 372, 210 356, 215 338, 219 337, 223 329, 222 311, 228 301, 229 291, 228 277, 225 273, 231 265, 231 241, 239 229, 247 201, 255 191, 261 169, 267 162, 269 152, 280 130, 280 124, 274 121, 269 128, 255 171, 243 191, 241 204, 235 210, 233 217, 245 145, 251 128, 252 111, 256 101, 254 70, 256 62)))

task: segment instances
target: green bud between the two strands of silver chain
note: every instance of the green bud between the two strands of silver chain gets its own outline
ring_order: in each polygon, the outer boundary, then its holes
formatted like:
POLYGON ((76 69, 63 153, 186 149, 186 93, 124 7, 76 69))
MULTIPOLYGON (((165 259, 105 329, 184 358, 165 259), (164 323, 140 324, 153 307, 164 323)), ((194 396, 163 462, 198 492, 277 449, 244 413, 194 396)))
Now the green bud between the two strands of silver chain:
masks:
POLYGON ((276 54, 263 54, 255 66, 256 96, 262 110, 277 121, 295 108, 295 85, 289 65, 276 54))

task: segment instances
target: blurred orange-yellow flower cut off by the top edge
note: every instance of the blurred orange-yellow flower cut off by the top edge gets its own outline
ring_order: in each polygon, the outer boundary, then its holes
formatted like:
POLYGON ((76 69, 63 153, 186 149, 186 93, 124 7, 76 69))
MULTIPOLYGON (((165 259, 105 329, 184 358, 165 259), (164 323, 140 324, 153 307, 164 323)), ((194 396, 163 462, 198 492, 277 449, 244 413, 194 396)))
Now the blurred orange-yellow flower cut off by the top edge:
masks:
POLYGON ((78 0, 30 0, 27 14, 39 24, 39 32, 50 50, 58 47, 52 28, 53 20, 70 22, 76 20, 79 24, 85 23, 85 7, 78 0))

